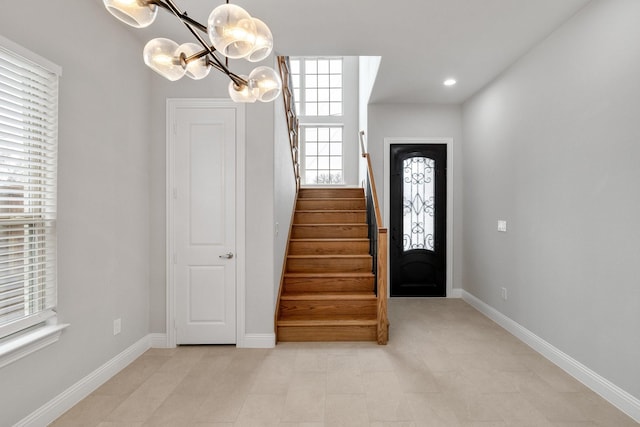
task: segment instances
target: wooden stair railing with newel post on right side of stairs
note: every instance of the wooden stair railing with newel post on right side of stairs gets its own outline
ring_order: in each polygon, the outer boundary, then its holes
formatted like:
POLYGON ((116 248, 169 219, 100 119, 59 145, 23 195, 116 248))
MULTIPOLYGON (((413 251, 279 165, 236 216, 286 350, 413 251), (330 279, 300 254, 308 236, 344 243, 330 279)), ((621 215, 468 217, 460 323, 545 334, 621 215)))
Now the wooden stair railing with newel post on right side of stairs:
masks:
POLYGON ((377 297, 377 341, 386 344, 389 341, 389 317, 387 314, 387 229, 383 227, 380 215, 378 193, 371 167, 371 158, 365 148, 364 131, 360 131, 360 149, 367 162, 364 190, 367 199, 367 223, 369 224, 369 252, 373 257, 373 274, 377 297))

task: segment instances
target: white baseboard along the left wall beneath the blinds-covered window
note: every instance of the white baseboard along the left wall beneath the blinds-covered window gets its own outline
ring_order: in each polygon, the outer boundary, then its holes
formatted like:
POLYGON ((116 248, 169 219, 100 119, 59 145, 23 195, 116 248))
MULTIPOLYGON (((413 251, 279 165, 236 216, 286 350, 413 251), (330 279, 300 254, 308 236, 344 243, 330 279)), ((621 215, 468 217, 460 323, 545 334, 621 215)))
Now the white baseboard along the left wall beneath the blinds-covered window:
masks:
POLYGON ((141 338, 122 353, 23 418, 13 427, 42 427, 49 425, 115 374, 126 368, 127 365, 147 351, 150 346, 150 335, 141 338))

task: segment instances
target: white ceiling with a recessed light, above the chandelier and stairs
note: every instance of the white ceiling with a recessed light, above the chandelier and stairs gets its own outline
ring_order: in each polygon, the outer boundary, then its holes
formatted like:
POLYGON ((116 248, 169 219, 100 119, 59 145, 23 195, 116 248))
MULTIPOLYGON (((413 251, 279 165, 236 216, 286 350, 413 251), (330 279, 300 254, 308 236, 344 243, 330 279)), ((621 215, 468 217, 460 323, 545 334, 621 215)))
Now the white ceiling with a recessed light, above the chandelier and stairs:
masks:
MULTIPOLYGON (((174 0, 206 24, 222 0, 174 0)), ((493 80, 589 0, 237 0, 273 32, 280 55, 382 58, 371 103, 457 104, 493 80), (458 84, 443 86, 445 78, 458 84)), ((133 30, 133 29, 132 29, 133 30)), ((145 41, 192 41, 160 11, 145 41)), ((142 48, 142 46, 141 46, 142 48)), ((233 69, 233 62, 231 62, 233 69)))

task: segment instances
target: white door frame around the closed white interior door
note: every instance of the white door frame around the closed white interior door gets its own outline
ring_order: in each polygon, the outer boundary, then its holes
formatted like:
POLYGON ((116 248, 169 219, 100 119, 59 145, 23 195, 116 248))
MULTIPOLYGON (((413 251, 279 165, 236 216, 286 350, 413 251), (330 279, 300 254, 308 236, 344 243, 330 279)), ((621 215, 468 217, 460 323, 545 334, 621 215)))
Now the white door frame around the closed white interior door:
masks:
POLYGON ((174 203, 175 171, 173 170, 176 111, 181 108, 234 108, 236 110, 236 346, 245 345, 245 105, 228 99, 169 98, 166 129, 166 264, 167 264, 167 346, 176 347, 176 307, 174 283, 174 203))

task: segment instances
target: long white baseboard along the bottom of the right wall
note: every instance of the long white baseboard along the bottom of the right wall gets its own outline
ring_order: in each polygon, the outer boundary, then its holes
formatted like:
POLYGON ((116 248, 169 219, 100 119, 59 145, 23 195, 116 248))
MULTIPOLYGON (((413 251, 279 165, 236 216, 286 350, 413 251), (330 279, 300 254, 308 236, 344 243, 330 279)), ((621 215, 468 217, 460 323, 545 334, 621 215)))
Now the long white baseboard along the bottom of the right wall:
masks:
POLYGON ((573 359, 566 353, 549 344, 530 330, 511 320, 495 308, 479 300, 465 290, 462 290, 462 298, 476 310, 502 326, 511 334, 519 338, 529 347, 549 359, 569 375, 589 387, 595 393, 607 400, 622 412, 640 422, 640 400, 624 391, 611 381, 603 378, 582 363, 573 359))

